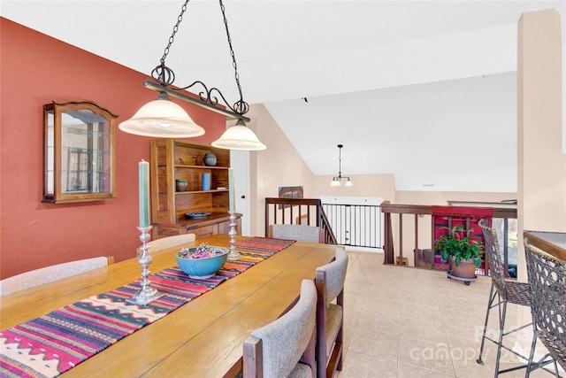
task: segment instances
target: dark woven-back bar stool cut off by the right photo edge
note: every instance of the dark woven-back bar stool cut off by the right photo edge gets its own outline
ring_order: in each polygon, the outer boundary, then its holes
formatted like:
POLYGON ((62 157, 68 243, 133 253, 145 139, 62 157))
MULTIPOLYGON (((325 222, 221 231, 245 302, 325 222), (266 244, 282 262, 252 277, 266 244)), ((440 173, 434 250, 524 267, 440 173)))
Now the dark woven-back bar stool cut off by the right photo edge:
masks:
POLYGON ((531 349, 526 376, 554 362, 558 378, 560 374, 556 363, 566 370, 566 262, 539 250, 528 239, 524 240, 524 255, 532 290, 532 328, 535 334, 532 345, 538 337, 548 350, 546 356, 534 362, 534 348, 531 349))

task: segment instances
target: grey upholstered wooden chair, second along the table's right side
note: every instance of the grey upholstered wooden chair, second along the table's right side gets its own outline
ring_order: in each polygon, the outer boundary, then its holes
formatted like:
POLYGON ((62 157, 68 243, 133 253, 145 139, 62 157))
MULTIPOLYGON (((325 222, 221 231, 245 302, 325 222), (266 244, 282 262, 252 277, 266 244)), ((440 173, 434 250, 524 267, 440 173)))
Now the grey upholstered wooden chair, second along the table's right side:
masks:
POLYGON ((317 376, 332 377, 342 370, 344 282, 348 254, 336 248, 333 261, 317 267, 317 376), (335 301, 335 303, 334 303, 335 301))

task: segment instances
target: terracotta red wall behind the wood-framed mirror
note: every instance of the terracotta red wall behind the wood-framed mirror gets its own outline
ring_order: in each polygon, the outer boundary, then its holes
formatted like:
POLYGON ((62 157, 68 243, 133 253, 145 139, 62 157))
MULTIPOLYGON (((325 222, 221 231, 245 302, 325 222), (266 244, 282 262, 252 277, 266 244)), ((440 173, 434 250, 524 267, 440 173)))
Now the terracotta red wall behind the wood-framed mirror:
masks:
MULTIPOLYGON (((148 76, 4 18, 0 38, 0 278, 79 258, 133 258, 137 163, 149 161, 150 138, 116 128, 116 199, 44 204, 42 105, 91 100, 119 114, 118 126, 157 97, 142 85, 148 76)), ((191 141, 210 143, 225 130, 225 117, 180 105, 206 129, 191 141)))

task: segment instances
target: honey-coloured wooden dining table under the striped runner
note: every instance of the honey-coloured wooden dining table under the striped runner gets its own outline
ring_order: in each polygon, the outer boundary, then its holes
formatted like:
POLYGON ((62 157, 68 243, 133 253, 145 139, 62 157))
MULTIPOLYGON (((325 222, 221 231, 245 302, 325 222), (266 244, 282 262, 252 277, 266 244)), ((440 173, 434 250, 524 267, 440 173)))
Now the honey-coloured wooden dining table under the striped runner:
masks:
MULTIPOLYGON (((238 236, 238 240, 246 239, 238 236)), ((228 235, 187 243, 227 246, 228 235)), ((176 266, 179 247, 152 253, 149 270, 176 266)), ((241 370, 242 344, 299 296, 303 279, 330 262, 335 245, 293 243, 67 371, 65 377, 223 377, 241 370)), ((135 253, 135 252, 134 252, 135 253)), ((136 281, 137 258, 0 297, 0 329, 136 281)))

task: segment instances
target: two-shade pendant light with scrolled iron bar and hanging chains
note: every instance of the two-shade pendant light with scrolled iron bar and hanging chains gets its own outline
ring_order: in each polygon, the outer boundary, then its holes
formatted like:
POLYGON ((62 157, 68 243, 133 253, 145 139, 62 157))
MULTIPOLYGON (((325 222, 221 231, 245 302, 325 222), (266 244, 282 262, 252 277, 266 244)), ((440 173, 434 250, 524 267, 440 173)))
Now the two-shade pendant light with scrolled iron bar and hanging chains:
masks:
POLYGON ((179 30, 183 14, 187 11, 187 4, 188 0, 186 0, 181 7, 180 15, 177 17, 177 22, 173 27, 172 35, 169 37, 159 66, 156 66, 153 71, 151 71, 151 77, 155 81, 143 82, 146 88, 159 92, 157 100, 143 105, 142 108, 134 114, 134 117, 120 123, 120 130, 136 135, 162 136, 167 138, 203 135, 203 127, 196 125, 188 116, 187 112, 179 105, 172 103, 170 96, 173 96, 180 100, 187 101, 187 103, 223 114, 229 120, 237 120, 233 127, 228 127, 226 132, 221 135, 217 141, 212 143, 213 146, 227 150, 265 150, 266 147, 264 143, 259 142, 254 132, 246 127, 245 122, 249 122, 249 118, 244 114, 249 111, 249 104, 243 100, 240 75, 233 53, 232 38, 228 30, 228 20, 226 19, 225 6, 222 0, 219 0, 220 11, 222 12, 224 25, 226 27, 226 37, 230 48, 230 55, 232 56, 234 77, 240 99, 232 105, 228 104, 226 97, 220 90, 214 87, 208 89, 203 81, 194 81, 192 84, 182 88, 172 87, 173 81, 175 81, 175 73, 171 68, 165 66, 165 58, 167 58, 172 42, 179 30), (187 89, 193 89, 196 85, 202 87, 198 93, 198 98, 189 96, 183 92, 187 89), (223 106, 218 106, 219 98, 227 109, 223 106))

